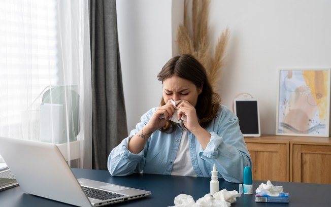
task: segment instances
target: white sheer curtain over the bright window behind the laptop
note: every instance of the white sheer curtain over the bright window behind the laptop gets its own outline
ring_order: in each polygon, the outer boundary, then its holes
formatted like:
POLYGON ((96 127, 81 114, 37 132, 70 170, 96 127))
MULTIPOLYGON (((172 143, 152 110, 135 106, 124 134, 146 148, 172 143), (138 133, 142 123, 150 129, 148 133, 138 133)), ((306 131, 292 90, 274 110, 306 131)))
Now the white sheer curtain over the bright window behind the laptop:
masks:
POLYGON ((88 24, 87 0, 0 4, 0 135, 55 143, 69 165, 84 168, 92 148, 88 24))

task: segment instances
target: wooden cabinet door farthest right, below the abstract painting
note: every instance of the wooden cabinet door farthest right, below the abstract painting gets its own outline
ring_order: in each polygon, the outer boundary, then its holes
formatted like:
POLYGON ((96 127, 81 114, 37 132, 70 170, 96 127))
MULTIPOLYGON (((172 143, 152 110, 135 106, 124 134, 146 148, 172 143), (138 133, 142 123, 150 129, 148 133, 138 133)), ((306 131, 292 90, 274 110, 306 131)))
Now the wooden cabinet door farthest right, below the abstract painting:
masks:
POLYGON ((291 146, 291 181, 331 184, 331 146, 291 146))

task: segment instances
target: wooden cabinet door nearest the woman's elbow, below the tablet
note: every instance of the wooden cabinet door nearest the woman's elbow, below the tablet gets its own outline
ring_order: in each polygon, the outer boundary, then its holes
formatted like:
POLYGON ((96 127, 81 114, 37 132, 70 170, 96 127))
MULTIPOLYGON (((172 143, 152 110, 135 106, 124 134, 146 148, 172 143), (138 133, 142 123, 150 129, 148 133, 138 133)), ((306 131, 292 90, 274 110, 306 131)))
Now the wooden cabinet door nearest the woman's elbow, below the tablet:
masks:
POLYGON ((289 145, 246 143, 252 158, 253 180, 289 181, 289 145))

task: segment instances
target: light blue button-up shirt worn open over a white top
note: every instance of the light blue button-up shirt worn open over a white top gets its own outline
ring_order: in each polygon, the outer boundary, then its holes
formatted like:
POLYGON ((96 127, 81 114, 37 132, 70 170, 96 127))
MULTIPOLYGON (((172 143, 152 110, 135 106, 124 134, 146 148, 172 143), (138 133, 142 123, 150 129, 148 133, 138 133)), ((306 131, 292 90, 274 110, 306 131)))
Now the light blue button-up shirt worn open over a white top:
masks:
MULTIPOLYGON (((171 174, 183 132, 180 126, 170 134, 154 131, 138 154, 127 149, 130 138, 148 123, 156 109, 145 113, 136 129, 111 151, 108 170, 112 176, 127 176, 141 171, 147 174, 171 174)), ((251 166, 252 161, 237 116, 221 105, 218 116, 205 129, 211 134, 205 150, 188 131, 191 164, 196 176, 211 177, 215 163, 218 177, 228 182, 242 183, 244 168, 251 166)))

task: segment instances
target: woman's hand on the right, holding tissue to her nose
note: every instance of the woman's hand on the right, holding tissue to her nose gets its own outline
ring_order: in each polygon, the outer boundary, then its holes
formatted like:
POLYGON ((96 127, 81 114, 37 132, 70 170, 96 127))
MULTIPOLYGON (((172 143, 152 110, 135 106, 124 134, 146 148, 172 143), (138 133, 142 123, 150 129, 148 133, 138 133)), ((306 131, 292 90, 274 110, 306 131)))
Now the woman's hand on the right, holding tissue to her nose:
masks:
POLYGON ((192 131, 197 127, 201 127, 197 121, 195 108, 191 105, 190 102, 183 100, 177 105, 177 114, 178 118, 186 117, 186 120, 183 120, 184 126, 192 131))

